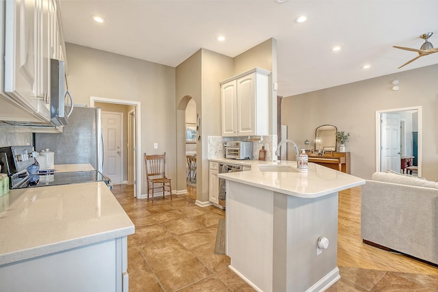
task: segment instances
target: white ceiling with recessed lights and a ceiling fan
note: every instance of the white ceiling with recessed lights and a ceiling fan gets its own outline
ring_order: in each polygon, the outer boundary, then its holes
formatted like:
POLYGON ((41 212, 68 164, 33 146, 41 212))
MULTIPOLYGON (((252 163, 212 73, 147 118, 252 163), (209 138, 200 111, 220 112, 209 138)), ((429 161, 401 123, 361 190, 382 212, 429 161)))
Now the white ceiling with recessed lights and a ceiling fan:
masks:
POLYGON ((392 47, 420 49, 428 31, 437 47, 437 13, 437 0, 61 0, 66 42, 172 67, 200 48, 235 57, 275 38, 281 96, 438 64, 436 53, 397 69, 417 53, 392 47))

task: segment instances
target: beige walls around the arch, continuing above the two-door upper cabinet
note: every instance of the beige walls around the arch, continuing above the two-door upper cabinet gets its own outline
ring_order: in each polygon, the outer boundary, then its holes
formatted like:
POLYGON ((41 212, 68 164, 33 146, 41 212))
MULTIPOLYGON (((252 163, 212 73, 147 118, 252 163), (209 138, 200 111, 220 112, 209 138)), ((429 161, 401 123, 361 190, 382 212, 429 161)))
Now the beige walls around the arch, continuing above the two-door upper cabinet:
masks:
MULTIPOLYGON (((196 111, 201 118, 198 135, 201 141, 196 143, 197 150, 197 199, 208 201, 208 160, 207 137, 220 136, 221 103, 220 81, 233 77, 246 70, 259 67, 276 71, 276 40, 270 39, 235 58, 201 49, 179 64, 176 69, 176 104, 177 104, 177 157, 178 189, 185 185, 185 154, 183 147, 183 122, 185 107, 190 100, 196 102, 196 111), (181 149, 181 150, 180 150, 181 149), (184 178, 184 181, 183 179, 184 178)), ((276 82, 276 72, 272 75, 276 82)), ((272 84, 272 80, 270 82, 272 84)), ((270 88, 272 90, 272 86, 270 88)), ((276 96, 276 94, 274 94, 276 96)), ((271 100, 272 101, 272 100, 271 100)), ((270 112, 272 113, 272 109, 270 112)), ((271 118, 276 119, 276 107, 271 118)), ((271 127, 272 129, 272 127, 271 127)), ((276 133, 276 128, 275 128, 276 133)))

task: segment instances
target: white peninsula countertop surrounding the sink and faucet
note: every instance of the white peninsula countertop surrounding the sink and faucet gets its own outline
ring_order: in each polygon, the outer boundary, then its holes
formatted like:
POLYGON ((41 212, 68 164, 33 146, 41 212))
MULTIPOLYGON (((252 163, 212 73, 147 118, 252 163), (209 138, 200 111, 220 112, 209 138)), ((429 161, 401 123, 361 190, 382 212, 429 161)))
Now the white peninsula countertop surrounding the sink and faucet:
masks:
POLYGON ((229 163, 236 161, 235 164, 251 165, 250 171, 219 174, 219 177, 300 198, 317 198, 365 183, 363 178, 326 168, 316 163, 309 163, 308 172, 261 172, 259 164, 285 164, 296 168, 296 161, 239 161, 232 159, 209 159, 209 161, 227 161, 229 163))

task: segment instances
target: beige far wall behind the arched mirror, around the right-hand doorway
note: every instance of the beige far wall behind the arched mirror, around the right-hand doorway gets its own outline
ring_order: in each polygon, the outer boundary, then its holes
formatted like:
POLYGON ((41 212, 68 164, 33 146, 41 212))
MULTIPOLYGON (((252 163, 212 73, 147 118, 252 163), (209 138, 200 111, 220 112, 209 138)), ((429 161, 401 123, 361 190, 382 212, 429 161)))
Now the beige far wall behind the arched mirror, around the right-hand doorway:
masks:
POLYGON ((351 174, 369 179, 376 170, 376 111, 422 106, 422 176, 438 181, 437 76, 433 65, 283 98, 287 136, 304 148, 321 124, 350 132, 351 174), (391 90, 394 79, 400 80, 398 91, 391 90))

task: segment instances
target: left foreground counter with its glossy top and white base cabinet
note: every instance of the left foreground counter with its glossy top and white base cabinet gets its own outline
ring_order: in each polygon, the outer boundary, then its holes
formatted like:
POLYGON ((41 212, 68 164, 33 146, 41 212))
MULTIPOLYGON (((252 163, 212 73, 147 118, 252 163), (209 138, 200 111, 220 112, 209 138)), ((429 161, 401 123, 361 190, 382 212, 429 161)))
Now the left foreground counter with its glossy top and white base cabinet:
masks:
POLYGON ((134 225, 105 183, 10 190, 0 219, 0 291, 128 291, 134 225))

